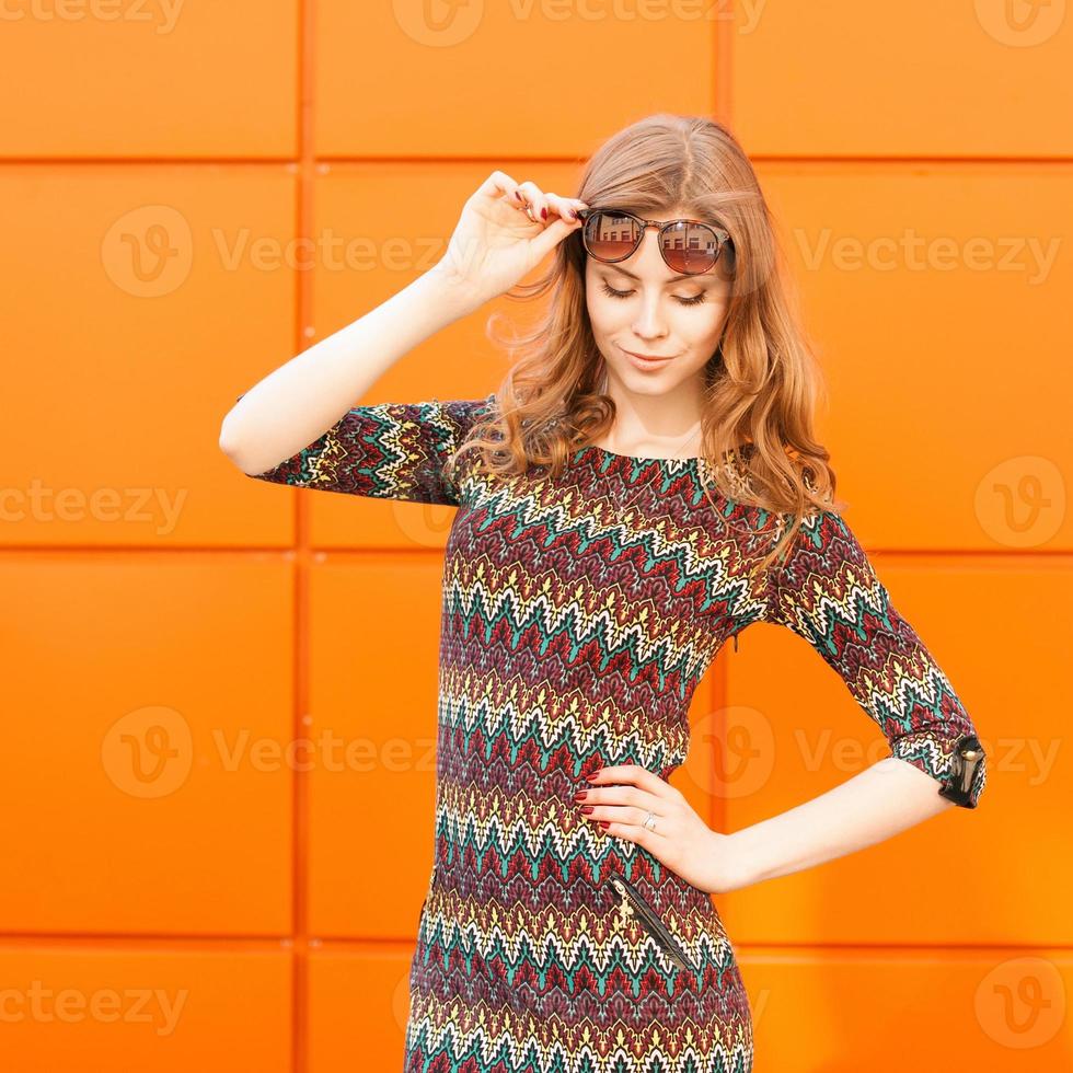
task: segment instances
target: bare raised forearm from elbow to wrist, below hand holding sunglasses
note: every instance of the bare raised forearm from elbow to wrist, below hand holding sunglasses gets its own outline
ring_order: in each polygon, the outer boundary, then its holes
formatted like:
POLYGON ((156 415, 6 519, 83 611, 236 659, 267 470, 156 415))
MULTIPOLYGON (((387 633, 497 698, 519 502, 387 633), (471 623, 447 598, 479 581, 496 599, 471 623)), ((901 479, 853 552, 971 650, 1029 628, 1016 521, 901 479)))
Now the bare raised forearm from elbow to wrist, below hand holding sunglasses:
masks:
POLYGON ((220 427, 220 449, 263 473, 331 428, 400 358, 472 312, 432 268, 364 316, 321 339, 251 388, 220 427))

